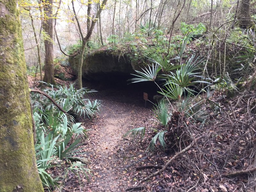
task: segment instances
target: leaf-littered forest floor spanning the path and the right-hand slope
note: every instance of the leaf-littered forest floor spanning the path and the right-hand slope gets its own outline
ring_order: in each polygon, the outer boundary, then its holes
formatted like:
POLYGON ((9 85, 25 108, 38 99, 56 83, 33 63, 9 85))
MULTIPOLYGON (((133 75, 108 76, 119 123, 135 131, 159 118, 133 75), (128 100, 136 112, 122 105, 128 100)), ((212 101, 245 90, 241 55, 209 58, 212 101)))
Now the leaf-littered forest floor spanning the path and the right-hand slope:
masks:
MULTIPOLYGON (((31 86, 32 78, 29 82, 31 86)), ((212 133, 211 136, 198 141, 164 172, 146 182, 140 182, 157 171, 152 166, 164 165, 180 151, 179 147, 184 146, 180 143, 177 148, 173 145, 173 137, 167 137, 169 142, 166 143, 165 150, 158 142, 154 152, 147 153, 147 147, 156 134, 153 129, 160 130, 163 127, 157 123, 152 105, 144 107, 143 90, 97 83, 85 83, 84 87, 99 91, 90 96, 90 99, 101 100, 103 104, 101 112, 92 120, 78 120, 85 129, 90 129, 87 132, 88 138, 84 139, 84 147, 90 153, 84 157, 91 175, 89 180, 83 178, 79 181, 71 173, 64 181, 64 187, 55 190, 56 192, 255 191, 255 188, 247 186, 252 178, 248 173, 231 178, 224 176, 225 173, 253 168, 256 116, 253 108, 250 113, 247 112, 250 109, 249 101, 256 98, 255 92, 244 94, 242 98, 237 95, 229 100, 222 94, 215 94, 211 100, 220 104, 221 112, 209 111, 209 122, 203 127, 199 123, 191 124, 187 126, 187 131, 176 132, 185 134, 183 139, 186 139, 188 132, 194 138, 209 132, 212 133), (127 131, 142 126, 146 127, 143 140, 124 137, 127 131), (135 188, 137 186, 140 188, 135 188)), ((175 121, 172 119, 173 125, 175 121)), ((184 121, 187 122, 186 119, 184 121)), ((179 125, 177 129, 184 130, 184 127, 179 125)), ((177 135, 175 138, 179 140, 177 135)), ((191 142, 192 140, 185 140, 183 145, 188 146, 191 142)))

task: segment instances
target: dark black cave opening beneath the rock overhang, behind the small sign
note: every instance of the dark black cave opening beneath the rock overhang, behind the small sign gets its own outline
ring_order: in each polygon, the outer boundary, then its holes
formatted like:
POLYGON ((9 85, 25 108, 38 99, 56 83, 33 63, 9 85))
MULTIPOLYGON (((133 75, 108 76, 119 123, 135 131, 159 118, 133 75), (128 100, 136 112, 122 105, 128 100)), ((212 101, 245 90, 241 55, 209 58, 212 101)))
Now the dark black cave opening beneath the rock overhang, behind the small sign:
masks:
MULTIPOLYGON (((95 98, 100 100, 108 99, 144 106, 143 92, 148 93, 148 100, 153 102, 153 96, 159 91, 154 82, 131 83, 128 80, 135 76, 130 74, 102 73, 97 74, 97 76, 100 78, 83 79, 83 86, 98 91, 95 98)), ((152 107, 152 104, 148 101, 147 106, 152 107)))

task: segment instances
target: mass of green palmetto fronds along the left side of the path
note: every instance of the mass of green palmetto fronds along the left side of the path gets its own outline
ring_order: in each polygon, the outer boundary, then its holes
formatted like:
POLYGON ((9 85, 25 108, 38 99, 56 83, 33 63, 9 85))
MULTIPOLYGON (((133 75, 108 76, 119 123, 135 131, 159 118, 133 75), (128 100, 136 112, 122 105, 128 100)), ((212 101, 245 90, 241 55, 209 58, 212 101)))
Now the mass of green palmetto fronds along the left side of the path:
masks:
POLYGON ((73 172, 79 180, 91 174, 87 168, 87 160, 82 156, 86 150, 83 141, 88 129, 84 129, 76 120, 79 117, 93 118, 101 108, 99 100, 91 101, 85 97, 95 92, 87 88, 77 90, 74 84, 69 86, 51 85, 42 91, 50 96, 63 110, 60 111, 44 95, 31 92, 31 102, 36 126, 36 163, 43 186, 58 187, 69 172, 73 172), (47 172, 53 167, 62 169, 61 177, 52 178, 47 172))

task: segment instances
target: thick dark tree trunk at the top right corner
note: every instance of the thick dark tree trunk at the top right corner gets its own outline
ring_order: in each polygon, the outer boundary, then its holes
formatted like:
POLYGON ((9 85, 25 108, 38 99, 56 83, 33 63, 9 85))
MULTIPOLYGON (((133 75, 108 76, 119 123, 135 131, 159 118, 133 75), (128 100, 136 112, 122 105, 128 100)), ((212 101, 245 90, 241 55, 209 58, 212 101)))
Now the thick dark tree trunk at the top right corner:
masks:
POLYGON ((255 28, 255 24, 252 21, 251 12, 250 12, 250 1, 251 0, 242 0, 241 9, 239 13, 238 24, 241 28, 255 28))

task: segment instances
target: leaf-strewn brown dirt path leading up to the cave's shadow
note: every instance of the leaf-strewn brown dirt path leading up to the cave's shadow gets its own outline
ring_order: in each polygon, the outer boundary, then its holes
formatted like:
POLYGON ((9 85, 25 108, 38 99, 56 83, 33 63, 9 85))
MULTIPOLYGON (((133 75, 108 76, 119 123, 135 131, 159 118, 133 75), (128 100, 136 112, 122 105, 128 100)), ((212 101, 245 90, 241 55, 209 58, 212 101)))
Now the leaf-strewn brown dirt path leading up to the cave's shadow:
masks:
MULTIPOLYGON (((99 99, 99 96, 95 97, 99 99)), ((144 149, 136 146, 136 143, 132 146, 132 141, 123 135, 143 125, 152 112, 143 107, 143 102, 138 106, 132 104, 130 98, 127 102, 122 95, 107 99, 102 96, 100 100, 103 107, 99 117, 92 124, 84 124, 86 129, 93 127, 88 133, 92 152, 89 167, 93 178, 84 191, 124 191, 137 184, 136 180, 125 174, 124 167, 136 160, 138 150, 144 149)))

